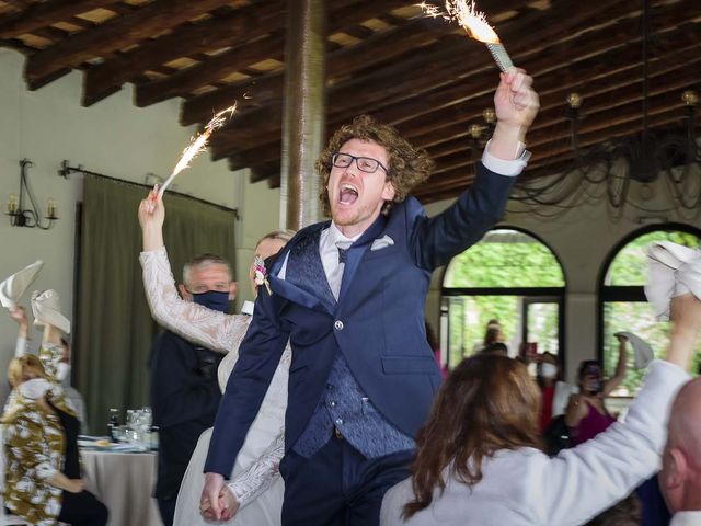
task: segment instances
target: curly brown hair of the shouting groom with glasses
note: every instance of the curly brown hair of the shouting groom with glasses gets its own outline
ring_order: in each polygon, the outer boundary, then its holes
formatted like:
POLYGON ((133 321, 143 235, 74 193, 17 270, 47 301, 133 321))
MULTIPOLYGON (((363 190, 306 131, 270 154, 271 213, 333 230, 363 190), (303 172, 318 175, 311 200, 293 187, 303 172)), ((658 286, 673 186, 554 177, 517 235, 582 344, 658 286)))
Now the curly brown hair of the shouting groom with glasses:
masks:
POLYGON ((322 178, 322 190, 319 194, 324 214, 331 215, 329 202, 329 178, 333 167, 331 158, 343 145, 350 139, 374 141, 382 146, 389 156, 389 172, 387 178, 394 187, 394 199, 387 202, 382 207, 382 214, 389 213, 392 203, 401 203, 417 184, 426 181, 434 168, 434 162, 423 148, 414 148, 393 126, 377 123, 369 115, 359 115, 352 124, 342 126, 333 134, 329 145, 317 160, 317 173, 322 178))

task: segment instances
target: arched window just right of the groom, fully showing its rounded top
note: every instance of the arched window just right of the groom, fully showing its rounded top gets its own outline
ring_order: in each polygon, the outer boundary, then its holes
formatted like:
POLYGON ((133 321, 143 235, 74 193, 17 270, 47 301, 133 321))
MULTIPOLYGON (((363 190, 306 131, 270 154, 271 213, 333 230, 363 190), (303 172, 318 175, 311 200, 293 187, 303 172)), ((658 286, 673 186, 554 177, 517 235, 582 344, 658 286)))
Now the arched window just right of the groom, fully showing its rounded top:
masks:
POLYGON ((553 251, 533 235, 498 228, 452 259, 443 284, 441 347, 455 367, 479 350, 497 319, 509 354, 563 350, 565 276, 553 251), (532 345, 535 344, 535 345, 532 345))

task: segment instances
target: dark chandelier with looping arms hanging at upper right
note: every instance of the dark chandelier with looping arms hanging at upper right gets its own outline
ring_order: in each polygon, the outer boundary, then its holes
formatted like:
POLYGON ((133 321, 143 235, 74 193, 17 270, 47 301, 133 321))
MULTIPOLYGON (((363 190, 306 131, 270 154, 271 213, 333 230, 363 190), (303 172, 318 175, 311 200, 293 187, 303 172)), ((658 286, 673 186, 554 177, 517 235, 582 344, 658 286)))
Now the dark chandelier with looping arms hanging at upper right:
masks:
POLYGON ((510 198, 512 213, 553 217, 584 201, 605 198, 613 220, 627 205, 648 216, 677 211, 691 219, 701 210, 701 140, 696 136, 698 94, 686 90, 680 96, 681 126, 653 130, 648 125, 650 1, 643 2, 642 130, 627 137, 612 137, 584 150, 579 147, 578 124, 585 117, 584 98, 567 96, 565 118, 570 122, 572 162, 570 168, 547 178, 521 178, 510 198), (652 183, 664 180, 670 203, 648 204, 652 183), (639 183, 633 185, 632 183, 639 183), (632 195, 631 188, 639 192, 632 195))

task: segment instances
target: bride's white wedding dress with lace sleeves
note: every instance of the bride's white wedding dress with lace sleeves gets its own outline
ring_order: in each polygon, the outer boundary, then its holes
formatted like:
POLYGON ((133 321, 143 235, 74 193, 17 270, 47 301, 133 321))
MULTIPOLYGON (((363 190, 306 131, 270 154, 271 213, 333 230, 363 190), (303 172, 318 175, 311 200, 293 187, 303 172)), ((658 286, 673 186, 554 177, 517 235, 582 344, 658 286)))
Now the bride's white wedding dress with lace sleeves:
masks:
MULTIPOLYGON (((239 345, 249 328, 251 317, 225 315, 177 295, 165 248, 141 252, 143 286, 153 318, 163 327, 207 348, 228 353, 218 370, 219 387, 223 392, 229 375, 239 357, 239 345)), ((187 471, 177 494, 174 526, 278 526, 283 506, 284 483, 278 472, 285 453, 285 410, 287 409, 287 379, 291 351, 285 350, 271 387, 263 400, 243 448, 237 458, 229 488, 237 496, 240 508, 226 523, 209 522, 199 513, 199 498, 204 487, 204 466, 209 449, 211 428, 197 442, 187 471)))

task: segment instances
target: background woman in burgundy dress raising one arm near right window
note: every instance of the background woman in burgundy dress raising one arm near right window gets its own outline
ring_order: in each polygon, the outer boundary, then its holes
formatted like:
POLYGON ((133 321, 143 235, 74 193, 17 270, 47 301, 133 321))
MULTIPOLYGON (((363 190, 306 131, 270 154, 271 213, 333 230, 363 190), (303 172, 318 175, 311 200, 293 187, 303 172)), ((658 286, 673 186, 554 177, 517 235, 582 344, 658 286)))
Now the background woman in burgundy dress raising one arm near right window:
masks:
POLYGON ((586 359, 579 364, 577 373, 579 392, 570 397, 565 413, 565 423, 570 427, 570 439, 575 446, 595 437, 616 422, 616 418, 609 414, 604 405, 604 399, 625 378, 628 361, 625 344, 628 339, 623 335, 616 338, 619 341, 619 354, 613 377, 605 381, 601 364, 597 361, 586 359))

